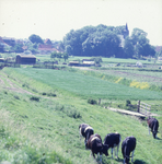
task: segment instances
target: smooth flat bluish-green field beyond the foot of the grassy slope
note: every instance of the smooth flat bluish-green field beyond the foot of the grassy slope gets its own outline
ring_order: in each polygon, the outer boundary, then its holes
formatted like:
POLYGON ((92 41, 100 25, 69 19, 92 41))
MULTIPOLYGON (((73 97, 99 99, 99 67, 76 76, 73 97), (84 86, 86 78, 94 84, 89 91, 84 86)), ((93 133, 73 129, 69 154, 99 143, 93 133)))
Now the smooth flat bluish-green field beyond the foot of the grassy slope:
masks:
MULTIPOLYGON (((81 96, 82 98, 162 99, 162 92, 129 87, 76 72, 33 68, 5 69, 5 71, 12 78, 16 77, 15 73, 28 77, 28 80, 24 80, 26 83, 30 83, 30 79, 36 80, 45 83, 53 90, 66 91, 73 96, 81 96)), ((23 81, 23 78, 21 80, 23 81)))

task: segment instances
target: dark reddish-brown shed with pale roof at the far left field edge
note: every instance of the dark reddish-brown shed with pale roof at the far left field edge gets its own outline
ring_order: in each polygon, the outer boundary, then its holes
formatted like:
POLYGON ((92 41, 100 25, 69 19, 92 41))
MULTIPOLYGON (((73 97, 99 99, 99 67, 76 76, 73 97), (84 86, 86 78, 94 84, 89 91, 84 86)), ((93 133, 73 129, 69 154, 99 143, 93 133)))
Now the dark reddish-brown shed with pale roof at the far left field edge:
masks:
POLYGON ((22 65, 34 65, 36 62, 36 57, 33 55, 18 55, 15 62, 22 65))

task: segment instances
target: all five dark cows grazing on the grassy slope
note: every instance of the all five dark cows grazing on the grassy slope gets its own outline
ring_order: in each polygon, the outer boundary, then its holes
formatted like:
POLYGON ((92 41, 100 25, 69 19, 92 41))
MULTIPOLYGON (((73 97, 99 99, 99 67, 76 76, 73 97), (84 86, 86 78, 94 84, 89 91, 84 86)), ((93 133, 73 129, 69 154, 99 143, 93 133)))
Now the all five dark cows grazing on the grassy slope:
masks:
MULTIPOLYGON (((149 117, 147 119, 149 134, 150 130, 152 132, 153 138, 157 138, 159 121, 155 118, 149 117)), ((119 133, 108 133, 104 142, 102 142, 102 138, 100 134, 95 133, 91 126, 86 124, 81 124, 79 126, 80 131, 80 140, 81 137, 84 138, 85 149, 90 149, 93 157, 95 159, 95 154, 100 154, 100 163, 102 163, 102 154, 108 156, 108 149, 112 149, 112 159, 113 159, 113 149, 117 147, 117 152, 115 153, 118 159, 118 149, 121 137, 119 133)), ((136 148, 136 138, 127 137, 121 143, 121 153, 124 157, 124 164, 128 164, 131 157, 131 162, 134 162, 134 152, 136 148), (131 153, 132 152, 132 153, 131 153), (131 153, 131 156, 130 156, 131 153)))

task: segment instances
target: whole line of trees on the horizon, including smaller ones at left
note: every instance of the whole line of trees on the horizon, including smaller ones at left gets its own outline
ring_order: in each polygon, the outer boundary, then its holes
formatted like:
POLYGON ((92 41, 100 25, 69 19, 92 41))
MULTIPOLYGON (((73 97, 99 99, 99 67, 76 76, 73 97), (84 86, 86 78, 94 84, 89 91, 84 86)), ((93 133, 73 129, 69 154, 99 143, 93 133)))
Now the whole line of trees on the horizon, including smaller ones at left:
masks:
MULTIPOLYGON (((67 56, 90 56, 90 57, 116 57, 116 58, 140 58, 147 56, 155 56, 155 47, 151 46, 147 38, 147 33, 140 28, 134 28, 131 35, 127 25, 106 26, 100 24, 97 26, 84 26, 80 30, 71 30, 66 34, 63 40, 53 42, 60 47, 61 52, 51 52, 51 58, 68 58, 67 56)), ((11 51, 22 52, 22 46, 33 54, 38 52, 38 45, 44 40, 40 36, 32 34, 28 39, 31 42, 15 44, 9 47, 11 51)), ((3 48, 3 47, 2 47, 3 48)), ((158 54, 161 56, 162 50, 158 54)))

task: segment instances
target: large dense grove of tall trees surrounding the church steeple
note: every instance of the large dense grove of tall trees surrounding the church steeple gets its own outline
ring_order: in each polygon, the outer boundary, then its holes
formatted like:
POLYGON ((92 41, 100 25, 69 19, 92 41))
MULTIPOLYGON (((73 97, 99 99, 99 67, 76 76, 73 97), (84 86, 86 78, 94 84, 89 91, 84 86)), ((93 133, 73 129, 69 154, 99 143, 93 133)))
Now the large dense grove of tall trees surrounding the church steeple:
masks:
POLYGON ((147 33, 134 28, 131 36, 126 35, 127 26, 85 26, 71 30, 63 38, 65 51, 74 56, 102 56, 132 58, 132 56, 154 56, 154 47, 149 44, 147 33), (124 40, 120 39, 124 36, 124 40), (121 43, 124 42, 124 46, 121 43))

